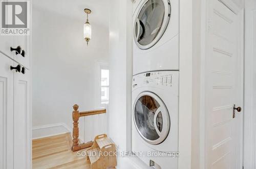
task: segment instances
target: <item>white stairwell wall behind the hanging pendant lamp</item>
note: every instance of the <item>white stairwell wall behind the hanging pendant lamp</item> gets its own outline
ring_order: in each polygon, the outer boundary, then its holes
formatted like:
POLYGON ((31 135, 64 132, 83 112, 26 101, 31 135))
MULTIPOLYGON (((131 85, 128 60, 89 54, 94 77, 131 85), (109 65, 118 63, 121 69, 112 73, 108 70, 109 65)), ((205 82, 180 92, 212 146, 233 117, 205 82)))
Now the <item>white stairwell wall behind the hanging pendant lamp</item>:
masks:
POLYGON ((33 127, 64 123, 72 129, 74 104, 80 111, 99 107, 97 61, 109 59, 108 1, 33 0, 32 32, 33 127), (84 8, 92 9, 89 46, 84 8))

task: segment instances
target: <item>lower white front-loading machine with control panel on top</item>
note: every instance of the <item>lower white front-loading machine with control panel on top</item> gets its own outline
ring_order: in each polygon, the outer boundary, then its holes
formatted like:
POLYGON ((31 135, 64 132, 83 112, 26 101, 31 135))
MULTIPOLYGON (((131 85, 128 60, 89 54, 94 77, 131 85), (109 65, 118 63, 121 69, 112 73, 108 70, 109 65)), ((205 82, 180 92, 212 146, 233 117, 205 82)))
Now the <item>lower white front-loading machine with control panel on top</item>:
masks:
POLYGON ((152 71, 133 77, 132 150, 143 152, 138 157, 161 169, 178 168, 179 71, 152 71), (147 156, 147 152, 163 152, 165 157, 147 156))

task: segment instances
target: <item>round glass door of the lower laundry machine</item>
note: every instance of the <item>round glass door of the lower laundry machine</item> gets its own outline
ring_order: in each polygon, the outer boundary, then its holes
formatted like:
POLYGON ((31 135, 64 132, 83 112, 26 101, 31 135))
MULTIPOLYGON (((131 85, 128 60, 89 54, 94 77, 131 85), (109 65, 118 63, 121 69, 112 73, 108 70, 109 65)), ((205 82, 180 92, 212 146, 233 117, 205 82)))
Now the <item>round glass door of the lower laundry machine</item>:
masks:
POLYGON ((170 129, 170 118, 166 106, 156 94, 141 93, 133 112, 137 131, 146 142, 159 144, 165 140, 170 129))

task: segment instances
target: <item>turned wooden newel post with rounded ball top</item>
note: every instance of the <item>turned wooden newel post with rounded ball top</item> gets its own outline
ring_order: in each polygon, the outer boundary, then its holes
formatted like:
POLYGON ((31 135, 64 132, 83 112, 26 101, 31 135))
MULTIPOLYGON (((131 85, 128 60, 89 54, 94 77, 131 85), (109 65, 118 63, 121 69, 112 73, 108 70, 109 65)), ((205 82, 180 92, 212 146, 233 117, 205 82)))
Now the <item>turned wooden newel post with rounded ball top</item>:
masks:
POLYGON ((78 111, 78 105, 75 104, 73 106, 73 113, 72 113, 72 118, 73 118, 73 146, 72 146, 72 151, 77 151, 79 149, 79 128, 78 128, 78 120, 80 117, 80 113, 78 111))

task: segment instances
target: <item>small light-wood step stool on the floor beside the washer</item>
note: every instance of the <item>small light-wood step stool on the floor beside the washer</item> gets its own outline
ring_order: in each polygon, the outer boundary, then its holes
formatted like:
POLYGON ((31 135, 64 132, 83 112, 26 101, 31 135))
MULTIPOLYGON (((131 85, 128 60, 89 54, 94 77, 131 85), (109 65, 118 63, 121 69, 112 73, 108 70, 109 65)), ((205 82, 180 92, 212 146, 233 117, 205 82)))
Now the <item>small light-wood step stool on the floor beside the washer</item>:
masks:
POLYGON ((116 146, 106 134, 95 137, 93 146, 87 150, 87 155, 91 169, 115 167, 117 164, 116 146))

